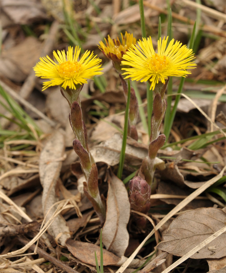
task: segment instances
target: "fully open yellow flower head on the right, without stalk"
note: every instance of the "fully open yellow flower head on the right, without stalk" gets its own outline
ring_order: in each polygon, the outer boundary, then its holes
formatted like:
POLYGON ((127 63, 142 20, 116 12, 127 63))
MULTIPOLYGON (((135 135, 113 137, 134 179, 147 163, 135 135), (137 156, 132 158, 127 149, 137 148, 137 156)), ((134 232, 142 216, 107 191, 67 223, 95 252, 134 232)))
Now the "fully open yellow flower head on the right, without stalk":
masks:
POLYGON ((151 37, 143 38, 138 42, 138 46, 133 46, 133 50, 129 49, 123 56, 125 61, 122 65, 131 66, 130 68, 122 68, 126 70, 123 75, 125 78, 132 80, 140 80, 141 82, 150 82, 150 90, 155 88, 156 83, 161 81, 165 84, 165 79, 170 76, 186 77, 191 72, 186 69, 195 68, 196 64, 192 62, 194 53, 192 49, 188 49, 186 45, 174 39, 167 45, 167 38, 158 41, 157 53, 153 49, 151 37))

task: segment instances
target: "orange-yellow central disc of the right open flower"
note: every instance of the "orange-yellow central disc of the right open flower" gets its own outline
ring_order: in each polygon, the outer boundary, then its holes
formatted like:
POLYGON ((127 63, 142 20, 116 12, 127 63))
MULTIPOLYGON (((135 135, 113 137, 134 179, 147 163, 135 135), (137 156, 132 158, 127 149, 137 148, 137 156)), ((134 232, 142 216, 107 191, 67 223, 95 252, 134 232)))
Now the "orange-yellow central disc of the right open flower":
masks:
POLYGON ((154 72, 161 73, 168 69, 170 64, 169 58, 167 56, 161 56, 157 53, 152 55, 148 59, 147 66, 154 72))

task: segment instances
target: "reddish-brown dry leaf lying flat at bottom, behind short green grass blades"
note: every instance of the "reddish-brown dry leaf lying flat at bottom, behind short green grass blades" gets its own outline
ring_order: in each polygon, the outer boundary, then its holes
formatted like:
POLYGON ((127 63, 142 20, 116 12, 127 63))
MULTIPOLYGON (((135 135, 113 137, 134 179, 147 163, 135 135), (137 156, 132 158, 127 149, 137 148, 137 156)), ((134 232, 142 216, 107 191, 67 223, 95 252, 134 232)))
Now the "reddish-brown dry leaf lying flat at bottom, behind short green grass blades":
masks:
MULTIPOLYGON (((90 244, 86 242, 74 241, 69 239, 66 241, 66 246, 68 250, 80 261, 89 264, 96 265, 95 262, 95 251, 97 256, 97 261, 100 266, 100 246, 96 244, 90 244)), ((110 251, 103 249, 103 265, 116 265, 121 266, 128 258, 122 256, 121 258, 116 256, 110 251)), ((130 263, 130 268, 136 268, 143 264, 144 261, 140 259, 133 259, 130 263)))

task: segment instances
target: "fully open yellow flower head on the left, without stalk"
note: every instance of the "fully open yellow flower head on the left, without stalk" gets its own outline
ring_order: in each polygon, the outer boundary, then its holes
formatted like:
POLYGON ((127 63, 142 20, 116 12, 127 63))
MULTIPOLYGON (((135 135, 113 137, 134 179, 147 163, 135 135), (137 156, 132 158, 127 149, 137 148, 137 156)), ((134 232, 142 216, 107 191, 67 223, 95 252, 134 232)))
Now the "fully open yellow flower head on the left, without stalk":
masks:
POLYGON ((49 86, 59 85, 66 89, 76 89, 76 85, 87 83, 87 79, 93 78, 95 75, 100 75, 102 70, 101 59, 93 56, 93 52, 86 51, 79 60, 80 48, 75 47, 73 55, 73 47, 68 47, 67 55, 65 51, 53 51, 53 56, 56 62, 52 61, 49 56, 40 58, 33 68, 35 75, 42 79, 49 79, 43 83, 42 91, 49 86))

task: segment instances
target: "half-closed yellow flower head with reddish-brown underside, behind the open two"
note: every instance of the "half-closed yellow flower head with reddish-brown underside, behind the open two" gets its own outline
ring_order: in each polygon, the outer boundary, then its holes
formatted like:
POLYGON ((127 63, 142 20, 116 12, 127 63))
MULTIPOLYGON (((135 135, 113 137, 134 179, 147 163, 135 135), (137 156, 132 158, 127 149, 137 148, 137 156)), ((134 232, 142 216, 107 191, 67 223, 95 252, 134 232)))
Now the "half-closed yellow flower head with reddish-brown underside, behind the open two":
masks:
POLYGON ((99 45, 99 49, 103 52, 103 54, 111 59, 113 62, 121 62, 122 56, 126 53, 129 48, 132 48, 132 45, 135 45, 137 42, 136 38, 133 38, 133 34, 125 33, 125 37, 122 37, 122 42, 120 42, 119 38, 111 39, 108 35, 108 41, 105 39, 106 45, 101 41, 99 45))

